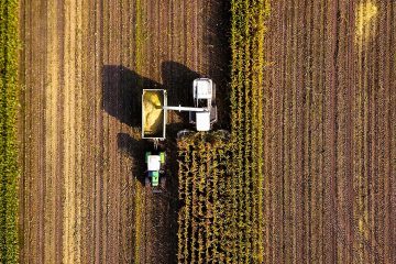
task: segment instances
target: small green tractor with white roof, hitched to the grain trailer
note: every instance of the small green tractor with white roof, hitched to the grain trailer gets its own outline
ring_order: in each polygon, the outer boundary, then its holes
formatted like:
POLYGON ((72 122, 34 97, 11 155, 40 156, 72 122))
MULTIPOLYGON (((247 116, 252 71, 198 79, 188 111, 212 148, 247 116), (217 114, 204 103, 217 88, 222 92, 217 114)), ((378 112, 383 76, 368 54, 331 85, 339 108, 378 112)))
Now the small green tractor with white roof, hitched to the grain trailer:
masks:
POLYGON ((161 188, 165 188, 165 152, 155 154, 152 152, 145 153, 145 163, 147 164, 145 185, 147 187, 153 187, 154 193, 161 193, 161 188))

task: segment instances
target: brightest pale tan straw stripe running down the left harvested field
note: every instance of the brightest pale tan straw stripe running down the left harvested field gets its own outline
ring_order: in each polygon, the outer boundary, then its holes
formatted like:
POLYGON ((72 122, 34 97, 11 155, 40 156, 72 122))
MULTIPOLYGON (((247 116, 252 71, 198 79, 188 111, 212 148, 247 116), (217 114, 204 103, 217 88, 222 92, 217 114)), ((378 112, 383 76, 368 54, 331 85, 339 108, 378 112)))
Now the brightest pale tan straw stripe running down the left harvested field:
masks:
MULTIPOLYGON (((79 263, 79 213, 77 194, 77 147, 76 131, 76 4, 72 1, 65 4, 66 34, 65 41, 65 223, 64 223, 64 251, 63 262, 79 263)), ((77 128, 76 128, 77 127, 77 128)))

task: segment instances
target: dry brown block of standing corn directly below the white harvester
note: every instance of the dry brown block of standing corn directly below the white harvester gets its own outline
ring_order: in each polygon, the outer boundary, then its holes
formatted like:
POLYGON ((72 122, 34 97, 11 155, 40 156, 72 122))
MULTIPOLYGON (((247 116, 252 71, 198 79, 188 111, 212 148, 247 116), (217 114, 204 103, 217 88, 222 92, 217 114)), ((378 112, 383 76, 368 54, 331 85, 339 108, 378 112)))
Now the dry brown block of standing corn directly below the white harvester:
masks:
POLYGON ((230 262, 229 146, 219 133, 178 142, 178 263, 230 262))

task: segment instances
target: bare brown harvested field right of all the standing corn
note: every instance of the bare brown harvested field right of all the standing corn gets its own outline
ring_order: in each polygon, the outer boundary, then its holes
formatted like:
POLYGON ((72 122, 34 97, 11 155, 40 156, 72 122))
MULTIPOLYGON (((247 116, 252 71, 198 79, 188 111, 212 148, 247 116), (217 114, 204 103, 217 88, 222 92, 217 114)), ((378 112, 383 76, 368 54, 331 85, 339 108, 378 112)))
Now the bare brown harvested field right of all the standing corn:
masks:
POLYGON ((396 3, 272 1, 267 263, 396 262, 396 3))

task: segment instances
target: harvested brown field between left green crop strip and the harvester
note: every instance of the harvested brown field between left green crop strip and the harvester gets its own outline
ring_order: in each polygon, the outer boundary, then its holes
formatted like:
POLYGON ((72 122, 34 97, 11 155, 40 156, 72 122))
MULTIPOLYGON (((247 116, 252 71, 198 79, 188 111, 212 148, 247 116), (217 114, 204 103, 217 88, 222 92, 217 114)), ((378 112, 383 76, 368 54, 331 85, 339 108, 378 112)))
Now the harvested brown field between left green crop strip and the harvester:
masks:
POLYGON ((221 2, 21 0, 21 263, 176 262, 177 176, 163 195, 143 188, 141 90, 190 103, 210 76, 224 95, 221 2))

